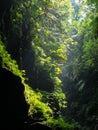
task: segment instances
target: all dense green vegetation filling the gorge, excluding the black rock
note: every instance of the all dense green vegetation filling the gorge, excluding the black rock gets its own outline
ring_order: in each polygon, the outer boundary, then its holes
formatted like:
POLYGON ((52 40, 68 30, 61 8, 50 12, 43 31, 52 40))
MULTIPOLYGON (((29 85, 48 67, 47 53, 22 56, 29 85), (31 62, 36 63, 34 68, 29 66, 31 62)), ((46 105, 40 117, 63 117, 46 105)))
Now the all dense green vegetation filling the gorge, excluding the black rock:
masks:
POLYGON ((31 123, 97 129, 98 2, 0 4, 0 62, 21 78, 31 123))

